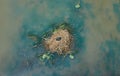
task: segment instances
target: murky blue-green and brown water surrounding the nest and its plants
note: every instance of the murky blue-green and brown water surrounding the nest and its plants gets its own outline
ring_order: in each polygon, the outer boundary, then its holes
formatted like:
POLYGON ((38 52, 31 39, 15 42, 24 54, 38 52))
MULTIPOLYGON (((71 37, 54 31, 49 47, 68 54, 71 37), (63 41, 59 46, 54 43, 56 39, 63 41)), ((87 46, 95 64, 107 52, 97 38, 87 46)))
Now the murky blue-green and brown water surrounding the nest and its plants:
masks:
POLYGON ((0 76, 119 76, 119 0, 1 0, 0 76), (80 3, 80 8, 75 5, 80 3), (28 33, 42 36, 59 23, 73 29, 75 59, 43 64, 28 33))

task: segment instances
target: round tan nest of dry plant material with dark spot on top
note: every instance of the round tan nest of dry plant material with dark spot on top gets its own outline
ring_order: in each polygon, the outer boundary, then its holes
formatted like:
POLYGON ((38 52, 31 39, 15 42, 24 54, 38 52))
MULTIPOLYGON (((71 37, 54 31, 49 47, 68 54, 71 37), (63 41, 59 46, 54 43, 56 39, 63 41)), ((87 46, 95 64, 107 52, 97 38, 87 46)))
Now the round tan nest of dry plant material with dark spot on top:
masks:
POLYGON ((57 29, 51 37, 45 38, 44 45, 51 53, 66 54, 71 51, 72 40, 72 35, 67 29, 57 29))

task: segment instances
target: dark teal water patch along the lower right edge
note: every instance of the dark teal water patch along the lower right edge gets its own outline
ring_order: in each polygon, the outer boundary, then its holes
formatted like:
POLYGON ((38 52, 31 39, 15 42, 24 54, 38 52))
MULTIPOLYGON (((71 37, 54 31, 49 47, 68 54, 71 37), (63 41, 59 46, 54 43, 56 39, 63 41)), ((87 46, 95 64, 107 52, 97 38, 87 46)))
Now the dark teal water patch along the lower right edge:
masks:
POLYGON ((104 51, 105 57, 105 69, 106 73, 111 76, 115 76, 118 74, 118 69, 120 68, 118 63, 120 62, 119 55, 120 52, 120 41, 110 40, 106 41, 104 46, 102 47, 102 51, 104 51), (105 48, 109 48, 106 50, 105 48))

